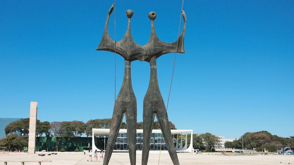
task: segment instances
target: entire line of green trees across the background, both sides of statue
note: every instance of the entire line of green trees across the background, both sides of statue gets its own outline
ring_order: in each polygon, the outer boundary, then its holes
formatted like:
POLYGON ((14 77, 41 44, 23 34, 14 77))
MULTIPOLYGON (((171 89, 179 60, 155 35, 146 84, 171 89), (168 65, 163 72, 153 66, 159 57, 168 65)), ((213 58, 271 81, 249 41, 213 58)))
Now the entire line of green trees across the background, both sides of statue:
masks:
MULTIPOLYGON (((22 120, 14 121, 8 124, 5 127, 6 138, 0 140, 0 145, 5 146, 8 150, 22 150, 23 147, 28 146, 28 137, 21 136, 22 134, 26 135, 29 129, 30 118, 25 118, 22 120)), ((86 123, 83 121, 54 121, 41 122, 37 120, 36 123, 36 147, 39 151, 40 137, 55 137, 56 143, 55 148, 58 151, 60 148, 61 139, 74 139, 78 143, 81 136, 92 137, 92 128, 104 128, 109 129, 111 124, 111 119, 94 119, 89 120, 86 123)), ((175 125, 170 122, 170 129, 176 130, 175 125)), ((121 124, 121 129, 126 129, 126 123, 121 124)), ((143 129, 143 122, 137 123, 137 129, 143 129)), ((158 121, 155 121, 152 129, 160 129, 158 121)), ((176 135, 175 135, 176 137, 176 135)), ((181 135, 178 136, 178 142, 180 145, 181 135)), ((276 135, 271 135, 267 131, 260 132, 247 132, 242 135, 239 139, 234 140, 233 142, 226 142, 225 148, 235 148, 242 149, 242 138, 244 149, 253 149, 256 151, 261 151, 262 148, 267 148, 269 151, 277 151, 283 147, 293 147, 294 146, 294 136, 289 138, 283 138, 276 135)), ((48 139, 46 138, 46 148, 48 151, 48 139)), ((183 145, 187 142, 187 145, 190 145, 191 134, 183 136, 183 145)), ((193 148, 200 149, 201 151, 215 151, 215 144, 218 143, 218 137, 211 133, 202 133, 202 134, 193 134, 193 148), (205 143, 204 143, 205 142, 205 143)), ((176 145, 176 142, 175 142, 176 145)))

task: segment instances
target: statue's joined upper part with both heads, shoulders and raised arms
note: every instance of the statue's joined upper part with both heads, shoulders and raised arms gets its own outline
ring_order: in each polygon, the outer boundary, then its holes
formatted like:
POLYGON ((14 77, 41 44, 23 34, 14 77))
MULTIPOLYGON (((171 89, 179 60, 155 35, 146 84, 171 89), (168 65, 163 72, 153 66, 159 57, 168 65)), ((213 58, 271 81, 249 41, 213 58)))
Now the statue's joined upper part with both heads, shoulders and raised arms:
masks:
POLYGON ((186 30, 186 14, 184 11, 182 11, 183 19, 184 19, 184 27, 182 30, 182 33, 180 37, 175 42, 163 42, 160 41, 159 38, 156 35, 155 28, 154 28, 154 20, 156 18, 155 12, 149 13, 149 19, 151 20, 151 35, 150 39, 147 44, 144 46, 141 46, 137 44, 132 37, 131 34, 131 17, 133 16, 132 10, 127 10, 126 15, 128 17, 128 27, 127 31, 124 35, 124 38, 120 41, 114 41, 110 38, 108 33, 108 22, 109 22, 109 16, 112 13, 114 9, 114 4, 111 6, 111 8, 108 11, 106 23, 105 23, 105 29, 103 32, 102 39, 100 41, 99 46, 97 47, 97 50, 106 50, 111 52, 116 52, 120 54, 122 57, 124 57, 125 60, 133 61, 133 60, 140 60, 140 61, 147 61, 149 62, 150 59, 153 56, 159 57, 162 54, 166 53, 185 53, 184 49, 184 35, 186 30))

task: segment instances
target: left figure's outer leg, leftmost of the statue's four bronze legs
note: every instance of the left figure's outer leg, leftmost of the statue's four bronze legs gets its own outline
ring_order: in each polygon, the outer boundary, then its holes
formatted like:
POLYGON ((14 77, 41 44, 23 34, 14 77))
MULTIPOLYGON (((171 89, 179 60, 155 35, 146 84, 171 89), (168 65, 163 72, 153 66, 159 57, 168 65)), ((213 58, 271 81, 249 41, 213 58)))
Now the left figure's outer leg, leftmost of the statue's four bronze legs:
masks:
POLYGON ((120 130, 120 125, 123 122, 124 113, 120 105, 118 105, 119 103, 117 103, 117 100, 115 101, 115 104, 114 104, 114 110, 113 110, 113 115, 111 119, 110 132, 109 132, 109 136, 107 140, 103 165, 108 165, 109 163, 109 160, 116 142, 117 134, 120 130))

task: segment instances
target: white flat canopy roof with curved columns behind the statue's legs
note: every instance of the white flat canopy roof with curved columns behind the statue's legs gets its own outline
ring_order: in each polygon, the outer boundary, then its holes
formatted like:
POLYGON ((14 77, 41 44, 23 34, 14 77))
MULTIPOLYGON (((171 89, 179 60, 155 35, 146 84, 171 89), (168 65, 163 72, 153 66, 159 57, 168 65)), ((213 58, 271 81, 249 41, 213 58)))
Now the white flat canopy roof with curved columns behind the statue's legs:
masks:
MULTIPOLYGON (((109 135, 110 129, 92 129, 92 149, 95 151, 100 151, 96 146, 95 146, 95 136, 108 136, 109 135)), ((177 135, 177 145, 176 145, 176 151, 177 152, 192 152, 192 144, 193 144, 193 130, 170 130, 172 135, 177 135), (187 143, 185 143, 185 146, 183 147, 183 133, 186 134, 186 139, 187 139, 187 134, 191 133, 191 141, 189 147, 187 147, 187 143), (181 134, 181 143, 180 147, 178 147, 178 134, 181 134)), ((127 129, 120 129, 119 133, 127 133, 127 129)), ((143 133, 142 129, 137 129, 137 133, 143 133)), ((152 133, 161 133, 161 130, 152 130, 152 133)))

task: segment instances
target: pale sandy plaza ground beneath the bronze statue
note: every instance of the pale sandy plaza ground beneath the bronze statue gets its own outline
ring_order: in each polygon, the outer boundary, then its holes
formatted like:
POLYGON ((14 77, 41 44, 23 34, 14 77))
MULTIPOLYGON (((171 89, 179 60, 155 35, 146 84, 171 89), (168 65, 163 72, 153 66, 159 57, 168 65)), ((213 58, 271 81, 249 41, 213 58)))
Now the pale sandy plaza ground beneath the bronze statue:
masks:
MULTIPOLYGON (((142 153, 137 153, 137 163, 141 164, 142 153)), ((103 162, 87 161, 88 155, 84 155, 83 152, 69 152, 60 153, 56 155, 38 156, 38 154, 27 153, 0 153, 0 164, 4 164, 7 161, 8 165, 21 165, 21 161, 36 161, 25 162, 25 165, 38 165, 38 161, 47 160, 51 162, 42 162, 42 165, 89 165, 99 164, 103 162)), ((265 165, 294 165, 294 155, 247 155, 247 154, 232 154, 232 155, 220 155, 220 154, 191 154, 191 153, 178 153, 178 158, 181 165, 192 164, 211 164, 211 165, 236 165, 236 164, 265 164, 265 165)), ((150 152, 149 165, 158 165, 159 153, 150 152)), ((99 160, 99 159, 98 159, 99 160)), ((101 159, 102 161, 102 159, 101 159)), ((128 153, 113 153, 109 165, 129 165, 128 153)), ((170 156, 167 152, 161 152, 159 165, 172 165, 170 156)))

